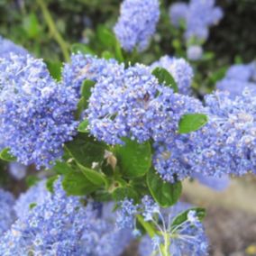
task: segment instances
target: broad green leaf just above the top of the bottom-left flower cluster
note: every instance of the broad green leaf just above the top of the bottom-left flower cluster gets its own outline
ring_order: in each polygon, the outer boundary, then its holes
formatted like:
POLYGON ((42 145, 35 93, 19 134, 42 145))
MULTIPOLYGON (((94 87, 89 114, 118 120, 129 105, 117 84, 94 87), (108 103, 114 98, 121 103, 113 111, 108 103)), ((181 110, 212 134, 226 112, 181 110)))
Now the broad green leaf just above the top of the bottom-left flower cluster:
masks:
POLYGON ((98 189, 98 186, 91 183, 83 173, 77 171, 65 175, 62 186, 68 195, 73 196, 85 196, 98 189))

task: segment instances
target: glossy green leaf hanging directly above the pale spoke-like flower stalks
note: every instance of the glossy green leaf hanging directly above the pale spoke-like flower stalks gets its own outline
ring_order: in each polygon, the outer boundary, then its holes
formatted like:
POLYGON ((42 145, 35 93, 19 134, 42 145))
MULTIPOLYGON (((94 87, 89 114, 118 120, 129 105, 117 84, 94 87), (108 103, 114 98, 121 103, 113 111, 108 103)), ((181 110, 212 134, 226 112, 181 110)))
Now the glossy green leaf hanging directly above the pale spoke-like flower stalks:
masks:
POLYGON ((162 207, 173 206, 181 195, 182 187, 180 182, 170 184, 163 181, 154 169, 147 174, 147 184, 151 196, 162 207))

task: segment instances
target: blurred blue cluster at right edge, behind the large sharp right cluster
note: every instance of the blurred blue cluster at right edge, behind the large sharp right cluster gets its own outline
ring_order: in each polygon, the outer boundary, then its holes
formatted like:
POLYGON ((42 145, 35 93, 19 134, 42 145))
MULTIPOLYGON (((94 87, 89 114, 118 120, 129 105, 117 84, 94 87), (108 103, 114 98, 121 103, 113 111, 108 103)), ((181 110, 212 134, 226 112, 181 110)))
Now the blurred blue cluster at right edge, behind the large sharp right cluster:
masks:
POLYGON ((225 77, 216 84, 217 89, 228 91, 232 98, 242 95, 246 87, 255 95, 253 90, 256 89, 256 62, 231 66, 226 71, 225 77))

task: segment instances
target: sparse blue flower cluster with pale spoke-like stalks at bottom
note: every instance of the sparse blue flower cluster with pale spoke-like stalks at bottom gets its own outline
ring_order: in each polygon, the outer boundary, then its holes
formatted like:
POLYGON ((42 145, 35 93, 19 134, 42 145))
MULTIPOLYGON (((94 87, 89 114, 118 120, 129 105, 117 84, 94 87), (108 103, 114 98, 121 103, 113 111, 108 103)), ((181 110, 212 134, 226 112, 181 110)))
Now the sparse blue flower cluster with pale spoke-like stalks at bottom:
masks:
POLYGON ((142 215, 145 222, 151 222, 159 231, 157 237, 152 239, 149 236, 142 238, 140 254, 143 256, 161 255, 160 244, 163 244, 163 237, 169 237, 169 251, 171 255, 208 255, 208 240, 203 224, 198 220, 194 210, 187 212, 187 220, 181 224, 173 224, 173 220, 183 211, 191 206, 178 203, 168 209, 161 209, 151 197, 142 198, 142 204, 134 205, 132 199, 124 199, 118 209, 117 225, 120 228, 133 227, 136 229, 135 215, 142 215), (123 221, 122 221, 123 220, 123 221))

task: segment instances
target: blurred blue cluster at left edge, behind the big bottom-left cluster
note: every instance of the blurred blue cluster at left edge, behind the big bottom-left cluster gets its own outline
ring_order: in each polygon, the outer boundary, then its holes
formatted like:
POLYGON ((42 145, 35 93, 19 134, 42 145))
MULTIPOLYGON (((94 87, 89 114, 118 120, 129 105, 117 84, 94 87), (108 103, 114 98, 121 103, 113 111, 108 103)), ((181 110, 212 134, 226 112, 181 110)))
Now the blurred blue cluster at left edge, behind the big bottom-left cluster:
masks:
POLYGON ((7 231, 15 220, 14 196, 0 188, 0 234, 7 231))

